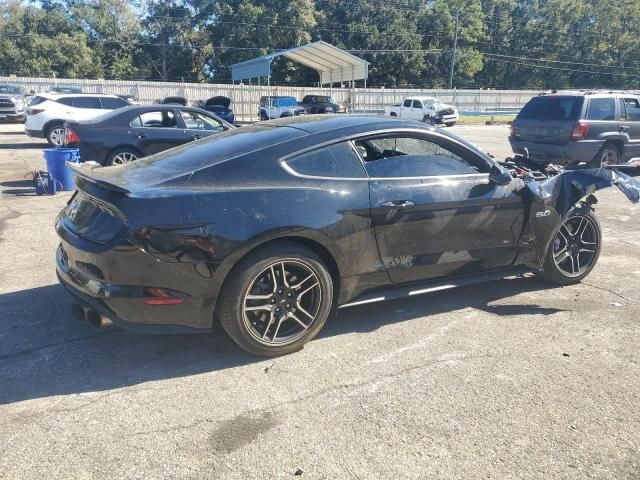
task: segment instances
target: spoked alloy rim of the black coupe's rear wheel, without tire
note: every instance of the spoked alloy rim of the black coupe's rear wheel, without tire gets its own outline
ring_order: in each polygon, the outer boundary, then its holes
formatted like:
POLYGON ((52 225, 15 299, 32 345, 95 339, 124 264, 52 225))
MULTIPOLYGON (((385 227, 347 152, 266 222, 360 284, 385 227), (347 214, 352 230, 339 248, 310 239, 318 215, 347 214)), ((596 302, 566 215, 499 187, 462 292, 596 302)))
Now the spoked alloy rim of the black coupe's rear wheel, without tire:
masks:
POLYGON ((320 312, 322 287, 315 269, 298 259, 282 259, 255 276, 242 301, 242 318, 260 343, 295 342, 320 312))

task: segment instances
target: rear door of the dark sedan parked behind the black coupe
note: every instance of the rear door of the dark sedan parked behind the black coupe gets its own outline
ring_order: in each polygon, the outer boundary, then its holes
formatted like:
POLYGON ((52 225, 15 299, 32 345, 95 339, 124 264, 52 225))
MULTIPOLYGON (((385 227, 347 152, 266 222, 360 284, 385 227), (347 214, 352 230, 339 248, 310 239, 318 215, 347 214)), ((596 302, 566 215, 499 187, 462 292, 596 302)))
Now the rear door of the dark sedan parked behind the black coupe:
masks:
POLYGON ((129 124, 131 143, 145 156, 189 141, 182 118, 173 108, 159 108, 137 115, 129 124))

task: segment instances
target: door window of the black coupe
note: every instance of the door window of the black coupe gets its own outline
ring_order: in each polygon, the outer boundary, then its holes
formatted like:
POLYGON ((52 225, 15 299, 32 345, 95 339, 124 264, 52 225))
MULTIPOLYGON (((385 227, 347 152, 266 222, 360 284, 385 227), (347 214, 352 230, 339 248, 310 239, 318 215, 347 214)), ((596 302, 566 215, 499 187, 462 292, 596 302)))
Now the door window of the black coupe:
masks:
POLYGON ((423 137, 388 136, 359 140, 358 152, 371 177, 434 177, 488 173, 489 166, 464 147, 423 137))

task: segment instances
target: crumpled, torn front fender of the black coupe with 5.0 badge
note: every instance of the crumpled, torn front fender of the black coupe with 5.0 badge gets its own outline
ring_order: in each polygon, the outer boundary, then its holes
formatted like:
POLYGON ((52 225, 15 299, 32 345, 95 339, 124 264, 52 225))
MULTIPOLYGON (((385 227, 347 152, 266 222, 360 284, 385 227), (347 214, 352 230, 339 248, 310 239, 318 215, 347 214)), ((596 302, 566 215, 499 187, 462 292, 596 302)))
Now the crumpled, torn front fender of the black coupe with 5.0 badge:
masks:
POLYGON ((555 233, 567 215, 575 212, 575 208, 592 208, 597 202, 592 194, 611 186, 618 187, 633 203, 640 200, 640 181, 609 168, 564 170, 544 180, 525 178, 522 195, 529 207, 529 218, 521 246, 535 255, 523 259, 524 262, 532 268, 541 268, 555 233))

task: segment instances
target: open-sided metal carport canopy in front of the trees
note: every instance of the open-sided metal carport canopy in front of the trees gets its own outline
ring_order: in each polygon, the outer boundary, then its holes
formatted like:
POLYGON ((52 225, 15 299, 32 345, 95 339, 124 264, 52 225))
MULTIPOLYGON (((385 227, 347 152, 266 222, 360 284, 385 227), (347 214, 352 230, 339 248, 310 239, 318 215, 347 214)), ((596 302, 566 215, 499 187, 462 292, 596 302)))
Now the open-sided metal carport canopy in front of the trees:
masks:
POLYGON ((231 80, 236 82, 271 77, 271 62, 278 57, 286 57, 313 68, 320 74, 320 83, 323 85, 366 80, 369 76, 369 62, 330 43, 319 41, 231 65, 231 80))

